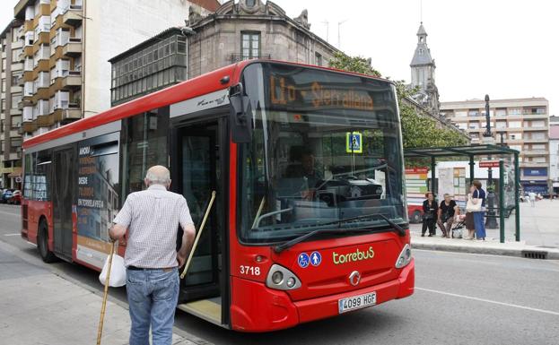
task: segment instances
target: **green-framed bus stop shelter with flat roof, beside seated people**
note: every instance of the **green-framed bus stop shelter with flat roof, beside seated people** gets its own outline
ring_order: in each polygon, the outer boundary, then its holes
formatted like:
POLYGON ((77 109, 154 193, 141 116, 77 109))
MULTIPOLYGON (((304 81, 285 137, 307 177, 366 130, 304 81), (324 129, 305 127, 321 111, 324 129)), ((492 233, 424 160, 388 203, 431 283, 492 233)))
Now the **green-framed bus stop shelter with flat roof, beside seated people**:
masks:
MULTIPOLYGON (((508 147, 481 144, 469 146, 449 146, 449 147, 430 147, 430 148, 412 148, 404 150, 404 157, 406 159, 429 159, 431 160, 431 190, 436 190, 435 185, 435 167, 437 160, 444 160, 449 158, 467 158, 469 160, 469 177, 470 183, 476 177, 475 166, 476 157, 478 158, 493 158, 498 160, 499 164, 499 203, 497 208, 489 211, 498 211, 499 228, 500 228, 500 241, 504 243, 504 218, 514 211, 515 218, 515 240, 520 241, 520 204, 519 204, 519 190, 520 190, 520 163, 519 151, 512 150, 508 147), (511 164, 508 164, 511 163, 511 164), (506 175, 505 175, 506 170, 506 175), (511 176, 513 175, 513 176, 511 176), (506 179, 505 179, 506 178, 506 179), (507 183, 503 183, 507 181, 507 183), (506 189, 506 190, 505 190, 506 189), (507 195, 505 195, 505 192, 507 195), (507 202, 507 200, 509 202, 507 202)), ((492 160, 492 161, 493 161, 492 160)))

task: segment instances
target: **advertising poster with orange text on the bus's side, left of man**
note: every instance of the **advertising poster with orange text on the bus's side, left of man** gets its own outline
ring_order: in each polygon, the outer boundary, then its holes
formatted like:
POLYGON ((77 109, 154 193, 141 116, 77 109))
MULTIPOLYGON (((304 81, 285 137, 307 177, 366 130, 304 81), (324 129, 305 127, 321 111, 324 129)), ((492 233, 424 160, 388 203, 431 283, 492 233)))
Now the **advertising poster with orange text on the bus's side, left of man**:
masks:
POLYGON ((78 146, 77 258, 101 268, 110 252, 108 228, 118 212, 118 134, 78 146))

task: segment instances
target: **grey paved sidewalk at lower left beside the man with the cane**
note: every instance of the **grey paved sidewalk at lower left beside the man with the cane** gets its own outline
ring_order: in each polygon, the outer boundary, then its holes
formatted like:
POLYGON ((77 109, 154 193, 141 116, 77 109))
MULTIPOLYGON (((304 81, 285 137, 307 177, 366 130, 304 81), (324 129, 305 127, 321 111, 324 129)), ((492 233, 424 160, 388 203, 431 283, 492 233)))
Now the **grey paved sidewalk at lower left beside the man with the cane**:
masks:
MULTIPOLYGON (((94 344, 102 297, 18 257, 0 242, 0 329, 11 345, 94 344)), ((110 294, 110 291, 109 291, 110 294)), ((103 345, 128 343, 127 308, 107 301, 103 345)), ((174 334, 173 345, 195 345, 174 334)))

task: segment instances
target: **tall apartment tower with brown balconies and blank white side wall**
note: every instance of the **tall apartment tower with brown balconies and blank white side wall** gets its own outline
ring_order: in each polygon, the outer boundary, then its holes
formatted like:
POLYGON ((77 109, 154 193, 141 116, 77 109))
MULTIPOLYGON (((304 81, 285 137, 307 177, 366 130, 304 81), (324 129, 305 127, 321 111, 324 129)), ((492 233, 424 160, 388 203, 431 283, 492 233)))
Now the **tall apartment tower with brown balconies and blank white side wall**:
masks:
POLYGON ((111 56, 181 25, 191 7, 210 13, 216 0, 20 0, 13 58, 22 65, 23 139, 110 107, 111 56), (108 10, 109 9, 109 10, 108 10))

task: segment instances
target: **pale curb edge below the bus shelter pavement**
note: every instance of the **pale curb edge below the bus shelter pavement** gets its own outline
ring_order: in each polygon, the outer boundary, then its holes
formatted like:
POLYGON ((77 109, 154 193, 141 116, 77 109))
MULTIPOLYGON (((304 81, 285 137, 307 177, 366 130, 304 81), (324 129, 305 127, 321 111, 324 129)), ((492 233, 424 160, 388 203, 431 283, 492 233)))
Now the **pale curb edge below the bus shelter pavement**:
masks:
POLYGON ((497 247, 476 247, 476 246, 446 246, 434 243, 414 243, 411 244, 413 249, 439 250, 443 252, 457 252, 469 254, 492 254, 502 256, 515 256, 524 258, 524 252, 546 254, 546 260, 559 260, 559 250, 546 250, 544 248, 527 247, 527 248, 497 248, 497 247))

